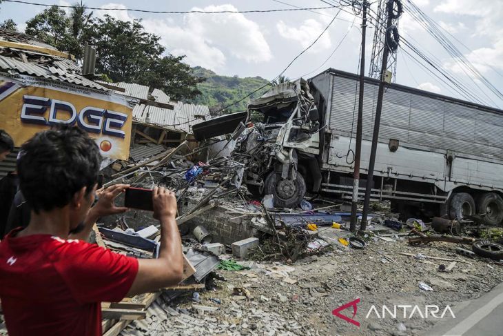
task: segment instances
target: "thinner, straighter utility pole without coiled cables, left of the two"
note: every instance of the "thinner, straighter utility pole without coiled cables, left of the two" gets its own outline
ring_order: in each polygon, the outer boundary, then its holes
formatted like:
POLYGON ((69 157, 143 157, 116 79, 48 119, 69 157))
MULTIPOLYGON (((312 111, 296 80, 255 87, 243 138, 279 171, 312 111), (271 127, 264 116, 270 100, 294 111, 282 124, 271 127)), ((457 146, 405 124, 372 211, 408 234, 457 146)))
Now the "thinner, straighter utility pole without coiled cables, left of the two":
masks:
POLYGON ((356 212, 358 210, 358 188, 360 187, 360 157, 362 155, 363 128, 363 85, 365 81, 365 30, 367 29, 367 0, 363 0, 362 16, 362 55, 360 56, 360 95, 358 97, 358 122, 356 123, 355 167, 353 172, 353 199, 351 199, 351 225, 349 230, 356 230, 356 212))

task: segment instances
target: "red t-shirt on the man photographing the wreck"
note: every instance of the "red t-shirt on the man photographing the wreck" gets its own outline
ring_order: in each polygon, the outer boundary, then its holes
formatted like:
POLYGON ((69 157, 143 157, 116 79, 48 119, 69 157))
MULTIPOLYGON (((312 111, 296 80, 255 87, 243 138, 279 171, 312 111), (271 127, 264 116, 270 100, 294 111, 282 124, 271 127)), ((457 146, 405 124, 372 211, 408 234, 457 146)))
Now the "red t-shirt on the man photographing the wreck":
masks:
POLYGON ((0 242, 0 298, 10 336, 101 335, 100 302, 119 302, 138 260, 51 235, 0 242))

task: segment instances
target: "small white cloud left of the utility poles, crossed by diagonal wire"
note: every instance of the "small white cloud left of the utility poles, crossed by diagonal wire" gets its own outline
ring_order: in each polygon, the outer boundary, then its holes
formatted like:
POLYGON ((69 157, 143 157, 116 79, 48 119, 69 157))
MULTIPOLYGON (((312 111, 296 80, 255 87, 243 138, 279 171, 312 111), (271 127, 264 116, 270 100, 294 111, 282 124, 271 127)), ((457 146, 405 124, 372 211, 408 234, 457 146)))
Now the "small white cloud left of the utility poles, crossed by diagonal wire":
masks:
MULTIPOLYGON (((279 21, 276 24, 276 28, 278 28, 278 32, 285 39, 297 41, 300 43, 300 46, 302 46, 302 48, 307 48, 307 46, 313 43, 316 37, 321 34, 321 32, 325 29, 325 26, 322 26, 322 23, 316 21, 315 19, 307 19, 302 22, 302 25, 300 25, 300 27, 298 28, 287 26, 287 24, 283 21, 279 21)), ((330 47, 330 35, 327 31, 322 35, 322 37, 320 37, 316 44, 311 49, 309 49, 309 51, 320 52, 330 47)))

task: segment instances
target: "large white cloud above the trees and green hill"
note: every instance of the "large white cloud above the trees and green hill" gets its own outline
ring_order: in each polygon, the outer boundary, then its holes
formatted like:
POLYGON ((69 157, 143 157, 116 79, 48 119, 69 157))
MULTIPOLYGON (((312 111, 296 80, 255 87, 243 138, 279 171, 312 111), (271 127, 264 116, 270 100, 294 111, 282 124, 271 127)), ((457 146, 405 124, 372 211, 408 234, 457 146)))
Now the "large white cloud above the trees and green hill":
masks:
MULTIPOLYGON (((107 3, 101 8, 126 8, 122 3, 107 3)), ((226 4, 192 8, 207 12, 238 10, 226 4)), ((127 11, 99 10, 96 16, 109 14, 115 19, 133 21, 134 16, 127 11)), ((228 57, 236 57, 247 63, 262 63, 272 59, 271 49, 265 40, 260 26, 240 13, 203 15, 189 13, 181 24, 174 19, 144 19, 143 27, 147 32, 161 37, 161 44, 167 52, 175 56, 186 55, 184 59, 191 66, 203 66, 211 70, 220 70, 228 57)))

